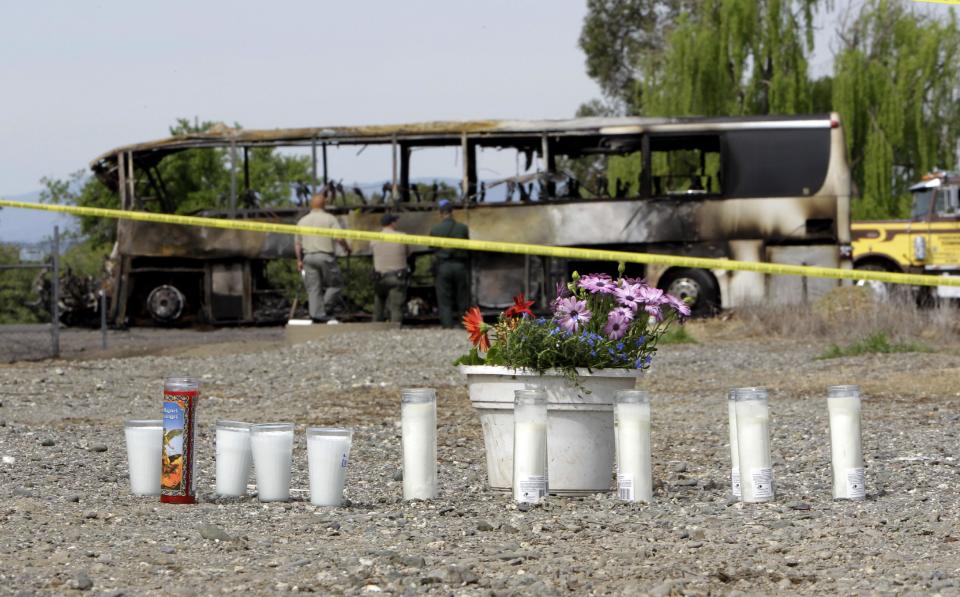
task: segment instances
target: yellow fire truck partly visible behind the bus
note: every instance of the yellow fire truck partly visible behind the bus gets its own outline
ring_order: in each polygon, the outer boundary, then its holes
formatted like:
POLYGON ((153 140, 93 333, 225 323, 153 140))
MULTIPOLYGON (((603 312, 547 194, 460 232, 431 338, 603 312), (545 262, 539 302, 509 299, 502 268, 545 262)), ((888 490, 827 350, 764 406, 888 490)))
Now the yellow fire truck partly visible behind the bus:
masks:
MULTIPOLYGON (((960 174, 928 174, 910 192, 910 219, 850 226, 854 267, 960 276, 960 174)), ((936 296, 958 299, 960 288, 938 286, 936 296)))

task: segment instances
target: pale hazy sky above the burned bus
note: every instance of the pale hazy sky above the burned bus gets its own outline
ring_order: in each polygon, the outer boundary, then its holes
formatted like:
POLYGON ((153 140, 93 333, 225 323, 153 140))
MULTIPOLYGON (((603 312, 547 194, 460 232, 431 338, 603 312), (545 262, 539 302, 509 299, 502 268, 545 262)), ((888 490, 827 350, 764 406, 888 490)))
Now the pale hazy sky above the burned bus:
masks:
MULTIPOLYGON (((4 2, 0 194, 166 136, 181 116, 246 128, 568 117, 598 95, 577 47, 584 13, 584 0, 4 2)), ((832 27, 819 21, 822 74, 832 27)))

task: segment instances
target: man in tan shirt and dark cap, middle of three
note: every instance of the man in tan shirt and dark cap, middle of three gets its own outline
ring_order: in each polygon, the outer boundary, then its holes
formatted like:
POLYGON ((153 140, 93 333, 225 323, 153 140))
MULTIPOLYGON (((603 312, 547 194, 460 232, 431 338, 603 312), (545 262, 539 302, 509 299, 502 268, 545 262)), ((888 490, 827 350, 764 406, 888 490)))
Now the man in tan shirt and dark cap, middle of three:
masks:
MULTIPOLYGON (((383 214, 380 218, 380 232, 398 234, 396 214, 383 214)), ((403 304, 407 301, 407 284, 410 276, 407 260, 410 258, 410 245, 375 240, 370 243, 373 252, 373 320, 403 321, 403 304)))

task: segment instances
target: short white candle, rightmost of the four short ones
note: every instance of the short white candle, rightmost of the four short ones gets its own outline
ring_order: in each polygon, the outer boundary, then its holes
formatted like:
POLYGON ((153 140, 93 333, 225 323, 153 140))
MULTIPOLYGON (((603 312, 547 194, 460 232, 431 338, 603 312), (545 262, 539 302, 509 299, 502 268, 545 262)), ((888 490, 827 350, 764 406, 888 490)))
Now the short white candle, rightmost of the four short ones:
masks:
POLYGON ((353 431, 332 427, 307 427, 307 463, 310 503, 339 506, 350 461, 353 431))

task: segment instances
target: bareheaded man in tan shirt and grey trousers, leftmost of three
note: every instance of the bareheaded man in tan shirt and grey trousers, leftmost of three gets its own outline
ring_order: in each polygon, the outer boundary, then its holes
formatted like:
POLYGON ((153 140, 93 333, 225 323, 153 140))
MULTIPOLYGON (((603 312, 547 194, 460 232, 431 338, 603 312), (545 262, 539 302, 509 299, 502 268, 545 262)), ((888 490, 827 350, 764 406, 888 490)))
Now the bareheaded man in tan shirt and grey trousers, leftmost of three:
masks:
MULTIPOLYGON (((337 218, 328 213, 327 206, 329 190, 316 193, 310 198, 310 213, 300 218, 297 226, 311 226, 315 228, 340 228, 337 218)), ((350 246, 343 239, 336 242, 350 254, 350 246)), ((316 323, 326 323, 333 320, 328 316, 332 313, 340 293, 343 291, 343 275, 337 265, 337 256, 334 251, 334 239, 325 236, 296 236, 294 251, 297 254, 297 270, 303 272, 303 285, 307 288, 307 298, 310 302, 310 319, 316 323)), ((335 321, 335 320, 334 320, 335 321)))

